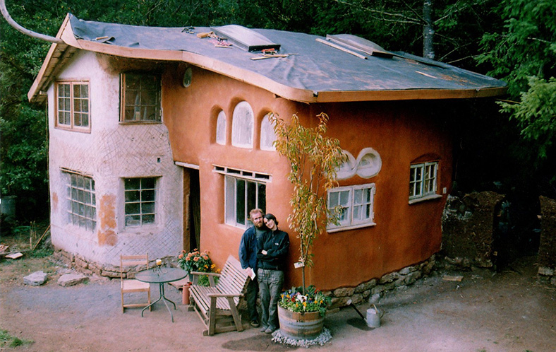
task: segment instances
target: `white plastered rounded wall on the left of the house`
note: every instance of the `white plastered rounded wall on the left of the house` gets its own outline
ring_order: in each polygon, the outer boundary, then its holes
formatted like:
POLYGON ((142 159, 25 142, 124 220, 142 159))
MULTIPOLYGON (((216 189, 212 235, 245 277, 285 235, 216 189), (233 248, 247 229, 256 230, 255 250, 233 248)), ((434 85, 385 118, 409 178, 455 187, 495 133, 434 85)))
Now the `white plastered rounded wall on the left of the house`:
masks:
POLYGON ((166 126, 119 123, 119 74, 104 70, 95 53, 78 52, 56 79, 89 81, 91 132, 54 126, 52 84, 48 114, 53 244, 99 264, 119 265, 120 254, 148 252, 151 259, 179 254, 183 248, 183 177, 182 169, 174 165, 166 126), (66 177, 61 168, 92 175, 95 180, 94 231, 68 223, 66 177), (126 177, 158 177, 155 225, 126 227, 126 177))

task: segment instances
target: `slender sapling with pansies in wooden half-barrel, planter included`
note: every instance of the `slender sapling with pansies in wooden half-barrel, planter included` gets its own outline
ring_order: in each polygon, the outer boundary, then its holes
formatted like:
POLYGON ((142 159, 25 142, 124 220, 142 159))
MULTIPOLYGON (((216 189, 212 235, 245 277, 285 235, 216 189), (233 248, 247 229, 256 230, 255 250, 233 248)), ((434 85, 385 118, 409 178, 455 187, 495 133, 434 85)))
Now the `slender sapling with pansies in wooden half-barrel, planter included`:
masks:
POLYGON ((282 300, 278 303, 280 329, 294 339, 314 339, 322 331, 330 299, 325 298, 315 286, 306 286, 305 269, 306 266, 313 265, 313 242, 325 231, 329 221, 337 223, 341 211, 329 211, 327 192, 337 184, 337 170, 346 160, 346 156, 337 139, 325 136, 328 115, 322 112, 317 117, 318 124, 312 129, 303 127, 297 115, 293 115, 290 124, 286 124, 277 115, 270 117, 277 136, 274 146, 279 154, 289 160, 291 172, 288 180, 294 186, 288 221, 289 228, 294 230, 300 242, 297 267, 301 266, 303 285, 283 293, 282 300), (290 312, 294 314, 289 314, 290 312), (302 332, 307 324, 294 324, 306 318, 315 319, 312 314, 315 312, 316 319, 321 320, 317 324, 320 325, 318 332, 302 332), (284 331, 283 326, 287 327, 284 328, 287 331, 284 331), (298 332, 294 332, 296 329, 298 332))

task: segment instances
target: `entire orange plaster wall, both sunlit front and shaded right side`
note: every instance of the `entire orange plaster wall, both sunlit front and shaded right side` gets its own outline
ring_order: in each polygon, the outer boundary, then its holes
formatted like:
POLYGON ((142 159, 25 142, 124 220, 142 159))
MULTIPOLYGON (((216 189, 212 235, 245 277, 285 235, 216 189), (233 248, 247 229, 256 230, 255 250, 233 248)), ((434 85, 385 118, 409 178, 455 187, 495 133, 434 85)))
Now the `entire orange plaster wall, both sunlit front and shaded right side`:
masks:
MULTIPOLYGON (((229 254, 237 257, 242 229, 224 223, 224 176, 213 165, 271 175, 267 183, 267 211, 290 235, 289 262, 298 260, 298 240, 289 230, 291 184, 289 165, 275 152, 261 151, 260 120, 277 112, 288 120, 296 113, 303 124, 314 126, 315 115, 330 115, 330 135, 357 156, 363 148, 374 148, 382 158, 382 170, 370 179, 354 176, 340 185, 374 182, 377 225, 338 233, 325 233, 315 245, 315 266, 308 269, 309 282, 322 289, 356 286, 390 271, 428 259, 440 250, 440 217, 445 196, 409 203, 409 165, 428 154, 440 157, 439 187, 449 187, 452 175, 451 140, 442 127, 442 115, 431 117, 434 103, 366 102, 309 106, 276 97, 245 83, 193 67, 191 86, 181 86, 186 66, 175 65, 164 76, 164 111, 174 158, 199 166, 201 189, 201 249, 210 250, 217 265, 229 254), (255 113, 253 148, 231 146, 231 117, 238 102, 245 100, 255 113), (226 114, 226 146, 214 141, 216 117, 226 114)), ((289 265, 292 268, 292 265, 289 265)), ((289 269, 286 286, 301 283, 301 271, 289 269)))

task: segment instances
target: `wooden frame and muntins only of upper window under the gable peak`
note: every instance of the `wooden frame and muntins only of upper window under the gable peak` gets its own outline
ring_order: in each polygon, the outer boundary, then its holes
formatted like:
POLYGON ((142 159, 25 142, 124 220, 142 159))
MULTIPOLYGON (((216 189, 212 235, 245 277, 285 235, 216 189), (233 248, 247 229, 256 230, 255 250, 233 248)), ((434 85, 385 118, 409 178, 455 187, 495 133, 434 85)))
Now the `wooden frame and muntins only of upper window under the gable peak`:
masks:
POLYGON ((90 133, 91 131, 91 102, 90 102, 90 86, 89 81, 56 81, 54 85, 55 95, 56 95, 56 113, 54 126, 59 129, 68 129, 71 131, 90 133), (61 86, 69 86, 69 95, 60 95, 61 86), (81 95, 75 97, 75 86, 86 87, 80 88, 81 95), (86 93, 85 93, 86 92, 86 93), (83 96, 85 93, 86 96, 83 96), (64 100, 64 104, 61 104, 64 100), (66 106, 65 101, 68 100, 68 106, 66 106), (64 105, 64 106, 62 106, 64 105), (60 122, 60 113, 65 113, 69 115, 69 124, 60 122), (79 117, 80 124, 76 124, 79 117), (83 124, 83 117, 87 119, 87 124, 83 124))

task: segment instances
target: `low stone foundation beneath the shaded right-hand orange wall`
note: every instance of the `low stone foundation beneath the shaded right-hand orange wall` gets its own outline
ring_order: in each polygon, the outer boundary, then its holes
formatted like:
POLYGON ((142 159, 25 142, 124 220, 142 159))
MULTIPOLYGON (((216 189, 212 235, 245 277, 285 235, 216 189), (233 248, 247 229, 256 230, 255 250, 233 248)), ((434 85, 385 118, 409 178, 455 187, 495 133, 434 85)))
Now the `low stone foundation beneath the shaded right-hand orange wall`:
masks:
POLYGON ((405 268, 383 275, 381 278, 360 283, 356 287, 342 287, 332 291, 325 291, 325 295, 332 298, 329 309, 345 307, 348 301, 354 305, 368 300, 369 303, 377 303, 388 291, 403 289, 415 283, 418 279, 428 276, 435 267, 435 254, 420 264, 406 266, 405 268))

